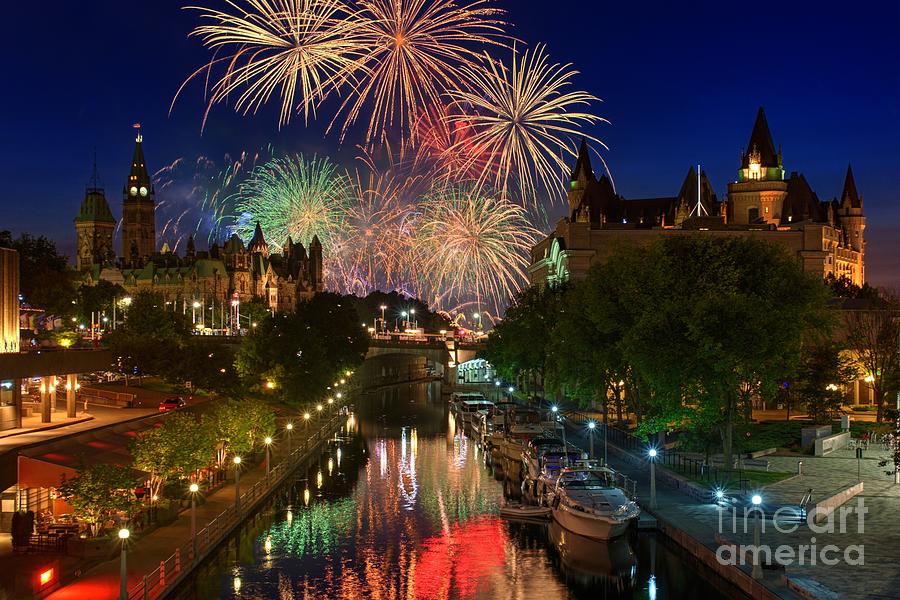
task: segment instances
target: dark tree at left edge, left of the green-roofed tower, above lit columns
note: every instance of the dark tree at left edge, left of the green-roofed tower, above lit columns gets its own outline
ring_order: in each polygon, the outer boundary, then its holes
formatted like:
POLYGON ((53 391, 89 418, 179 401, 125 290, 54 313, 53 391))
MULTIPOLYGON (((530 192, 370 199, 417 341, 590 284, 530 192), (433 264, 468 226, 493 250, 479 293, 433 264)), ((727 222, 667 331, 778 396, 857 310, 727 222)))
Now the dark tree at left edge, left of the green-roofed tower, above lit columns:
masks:
POLYGON ((74 273, 56 244, 44 236, 23 233, 13 239, 9 231, 0 231, 0 246, 19 252, 19 293, 26 303, 49 315, 74 313, 74 273))

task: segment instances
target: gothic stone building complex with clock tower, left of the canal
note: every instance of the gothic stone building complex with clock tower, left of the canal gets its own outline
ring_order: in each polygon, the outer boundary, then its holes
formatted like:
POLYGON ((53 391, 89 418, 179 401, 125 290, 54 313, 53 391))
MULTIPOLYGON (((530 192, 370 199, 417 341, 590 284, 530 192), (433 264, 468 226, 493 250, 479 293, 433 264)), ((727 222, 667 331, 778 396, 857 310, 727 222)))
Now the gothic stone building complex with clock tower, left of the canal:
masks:
MULTIPOLYGON (((323 290, 322 244, 313 238, 309 250, 288 238, 282 254, 270 254, 262 230, 248 245, 232 234, 220 246, 198 251, 193 238, 184 256, 163 245, 156 248, 155 191, 144 162, 143 138, 138 129, 131 172, 122 201, 122 252, 113 249, 116 219, 104 191, 94 177, 75 217, 76 268, 86 285, 101 280, 116 283, 129 294, 152 290, 167 304, 185 311, 219 307, 260 298, 276 311, 294 310, 298 300, 323 290)), ((224 317, 223 317, 224 321, 224 317)))

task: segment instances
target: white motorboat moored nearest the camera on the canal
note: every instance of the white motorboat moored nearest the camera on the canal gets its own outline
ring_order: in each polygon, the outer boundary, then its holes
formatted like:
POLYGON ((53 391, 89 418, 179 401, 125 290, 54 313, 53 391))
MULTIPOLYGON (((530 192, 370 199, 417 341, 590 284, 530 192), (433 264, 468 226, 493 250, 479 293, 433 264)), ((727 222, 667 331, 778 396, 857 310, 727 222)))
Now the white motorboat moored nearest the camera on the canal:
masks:
POLYGON ((569 531, 595 540, 624 534, 641 510, 614 481, 615 472, 607 467, 564 468, 550 503, 553 519, 569 531))

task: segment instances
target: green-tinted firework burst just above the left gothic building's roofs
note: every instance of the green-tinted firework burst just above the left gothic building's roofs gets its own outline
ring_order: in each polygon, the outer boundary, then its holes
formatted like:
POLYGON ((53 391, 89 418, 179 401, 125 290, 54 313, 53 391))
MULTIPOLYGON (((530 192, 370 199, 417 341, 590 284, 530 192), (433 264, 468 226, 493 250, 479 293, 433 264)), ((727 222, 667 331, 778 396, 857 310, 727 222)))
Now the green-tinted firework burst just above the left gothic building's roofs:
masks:
MULTIPOLYGON (((241 186, 235 227, 249 240, 259 222, 269 246, 280 250, 288 236, 309 248, 318 236, 329 256, 340 243, 353 197, 350 178, 327 158, 276 158, 257 167, 241 186)), ((327 273, 326 273, 327 274, 327 273)))

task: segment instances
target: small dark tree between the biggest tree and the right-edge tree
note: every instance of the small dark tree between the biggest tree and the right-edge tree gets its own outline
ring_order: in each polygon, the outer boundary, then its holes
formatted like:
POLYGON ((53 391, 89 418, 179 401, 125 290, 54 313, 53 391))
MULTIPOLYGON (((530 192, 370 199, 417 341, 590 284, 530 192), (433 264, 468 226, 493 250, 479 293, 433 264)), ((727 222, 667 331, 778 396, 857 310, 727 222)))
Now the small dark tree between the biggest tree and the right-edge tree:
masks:
POLYGON ((823 340, 804 350, 794 385, 809 418, 828 423, 847 402, 847 386, 858 377, 853 359, 836 344, 823 340))

